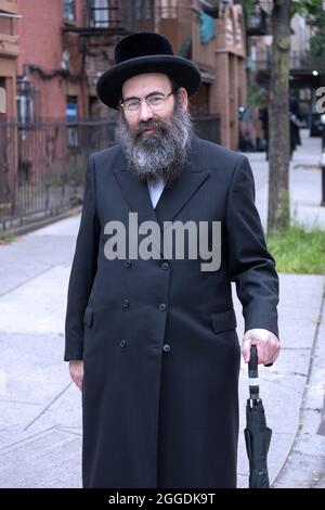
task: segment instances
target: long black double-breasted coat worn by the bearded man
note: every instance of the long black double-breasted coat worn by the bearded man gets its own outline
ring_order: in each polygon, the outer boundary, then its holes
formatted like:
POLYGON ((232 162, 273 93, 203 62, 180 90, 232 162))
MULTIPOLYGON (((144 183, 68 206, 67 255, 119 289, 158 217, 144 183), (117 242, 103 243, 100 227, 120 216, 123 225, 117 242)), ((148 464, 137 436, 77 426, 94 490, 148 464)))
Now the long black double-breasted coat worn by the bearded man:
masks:
MULTIPOLYGON (((188 164, 156 208, 119 145, 89 158, 68 288, 65 360, 83 359, 84 487, 235 487, 239 344, 277 334, 277 276, 247 158, 193 137, 188 164), (105 225, 221 221, 221 265, 108 260, 105 225)), ((162 243, 161 243, 162 245, 162 243)))

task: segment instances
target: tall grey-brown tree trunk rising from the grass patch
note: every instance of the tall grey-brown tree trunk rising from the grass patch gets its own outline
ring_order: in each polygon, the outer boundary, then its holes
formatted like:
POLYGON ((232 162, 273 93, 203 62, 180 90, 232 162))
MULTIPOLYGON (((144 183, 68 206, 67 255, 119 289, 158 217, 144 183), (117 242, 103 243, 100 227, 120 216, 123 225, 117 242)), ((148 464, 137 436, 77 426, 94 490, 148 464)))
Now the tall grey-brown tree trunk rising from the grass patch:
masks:
POLYGON ((273 43, 269 105, 269 232, 283 230, 290 222, 289 10, 290 0, 274 0, 272 11, 273 43))

